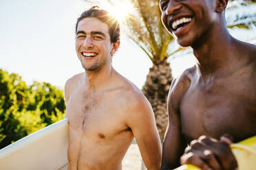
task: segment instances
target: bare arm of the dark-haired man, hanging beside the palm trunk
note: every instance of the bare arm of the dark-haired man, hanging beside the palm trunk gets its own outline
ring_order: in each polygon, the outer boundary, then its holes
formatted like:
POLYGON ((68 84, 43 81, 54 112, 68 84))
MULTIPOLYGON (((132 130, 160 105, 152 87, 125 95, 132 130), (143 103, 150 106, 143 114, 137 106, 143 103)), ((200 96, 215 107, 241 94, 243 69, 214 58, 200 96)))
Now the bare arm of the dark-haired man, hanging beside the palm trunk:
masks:
POLYGON ((160 169, 161 144, 153 110, 149 101, 140 94, 131 104, 127 125, 131 128, 140 154, 148 170, 160 169))

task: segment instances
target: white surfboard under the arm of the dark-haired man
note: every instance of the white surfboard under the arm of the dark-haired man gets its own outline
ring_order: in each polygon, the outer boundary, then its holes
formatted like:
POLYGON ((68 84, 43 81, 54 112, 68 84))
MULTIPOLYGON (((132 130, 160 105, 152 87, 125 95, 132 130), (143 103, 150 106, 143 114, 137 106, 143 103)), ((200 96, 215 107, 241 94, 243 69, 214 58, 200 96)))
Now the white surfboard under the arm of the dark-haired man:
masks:
POLYGON ((67 169, 67 119, 49 125, 0 150, 0 169, 67 169))

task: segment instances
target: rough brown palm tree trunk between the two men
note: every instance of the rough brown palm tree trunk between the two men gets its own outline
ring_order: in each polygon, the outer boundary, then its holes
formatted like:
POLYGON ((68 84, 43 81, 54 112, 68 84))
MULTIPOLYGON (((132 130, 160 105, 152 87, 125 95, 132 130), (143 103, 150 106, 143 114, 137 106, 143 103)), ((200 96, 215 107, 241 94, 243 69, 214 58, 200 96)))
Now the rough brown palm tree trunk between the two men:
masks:
POLYGON ((142 87, 142 93, 147 97, 153 108, 161 140, 164 138, 168 122, 167 96, 172 80, 171 68, 167 60, 157 60, 153 62, 153 66, 149 69, 147 80, 142 87))

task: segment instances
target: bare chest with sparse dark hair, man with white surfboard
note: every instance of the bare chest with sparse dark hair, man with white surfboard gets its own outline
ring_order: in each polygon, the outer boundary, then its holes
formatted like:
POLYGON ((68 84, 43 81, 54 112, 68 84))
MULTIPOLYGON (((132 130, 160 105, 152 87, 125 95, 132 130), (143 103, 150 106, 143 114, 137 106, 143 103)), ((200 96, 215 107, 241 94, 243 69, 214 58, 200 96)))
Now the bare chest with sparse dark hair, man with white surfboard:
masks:
POLYGON ((67 104, 70 130, 92 139, 111 139, 125 132, 123 110, 105 94, 74 93, 67 104))

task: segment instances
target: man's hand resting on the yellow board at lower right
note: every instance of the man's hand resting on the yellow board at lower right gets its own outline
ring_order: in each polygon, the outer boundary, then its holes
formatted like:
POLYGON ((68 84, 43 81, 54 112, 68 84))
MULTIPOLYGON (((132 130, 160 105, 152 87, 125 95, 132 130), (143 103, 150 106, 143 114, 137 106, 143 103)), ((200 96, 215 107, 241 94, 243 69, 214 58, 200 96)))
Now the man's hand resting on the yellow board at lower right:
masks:
POLYGON ((229 145, 232 140, 224 135, 217 141, 214 138, 200 136, 191 141, 180 158, 181 164, 192 164, 201 169, 237 169, 237 160, 229 145))

